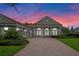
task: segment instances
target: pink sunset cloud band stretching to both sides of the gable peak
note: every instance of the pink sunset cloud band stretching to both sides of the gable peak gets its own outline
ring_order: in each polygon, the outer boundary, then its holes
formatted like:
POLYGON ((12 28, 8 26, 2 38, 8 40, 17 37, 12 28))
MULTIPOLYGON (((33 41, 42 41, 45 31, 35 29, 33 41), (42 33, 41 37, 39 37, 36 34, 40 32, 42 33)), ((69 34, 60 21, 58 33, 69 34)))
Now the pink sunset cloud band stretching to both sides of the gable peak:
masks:
POLYGON ((75 25, 75 24, 79 24, 79 15, 64 15, 64 16, 52 16, 49 14, 34 14, 32 16, 29 16, 28 18, 22 18, 19 19, 20 22, 25 23, 35 23, 37 21, 39 21, 40 19, 42 19, 45 16, 50 16, 52 17, 54 20, 58 21, 59 23, 61 23, 63 26, 69 26, 69 25, 75 25))

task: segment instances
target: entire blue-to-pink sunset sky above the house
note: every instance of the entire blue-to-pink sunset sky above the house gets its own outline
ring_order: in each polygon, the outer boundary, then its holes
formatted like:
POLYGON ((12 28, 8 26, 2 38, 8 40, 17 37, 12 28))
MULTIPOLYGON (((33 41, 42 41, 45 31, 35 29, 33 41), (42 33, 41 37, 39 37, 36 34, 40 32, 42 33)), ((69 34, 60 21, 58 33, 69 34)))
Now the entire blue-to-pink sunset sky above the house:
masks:
POLYGON ((16 8, 0 4, 0 13, 21 23, 35 23, 45 16, 58 21, 63 26, 79 26, 78 3, 18 3, 16 8))

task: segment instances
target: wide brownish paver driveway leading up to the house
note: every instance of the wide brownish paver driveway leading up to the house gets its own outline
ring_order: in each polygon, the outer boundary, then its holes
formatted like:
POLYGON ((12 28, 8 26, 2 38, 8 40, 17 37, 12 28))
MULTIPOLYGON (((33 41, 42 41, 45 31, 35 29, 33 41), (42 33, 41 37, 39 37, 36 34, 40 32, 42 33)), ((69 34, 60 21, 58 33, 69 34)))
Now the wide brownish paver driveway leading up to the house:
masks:
POLYGON ((79 56, 79 52, 53 38, 31 38, 16 56, 79 56))

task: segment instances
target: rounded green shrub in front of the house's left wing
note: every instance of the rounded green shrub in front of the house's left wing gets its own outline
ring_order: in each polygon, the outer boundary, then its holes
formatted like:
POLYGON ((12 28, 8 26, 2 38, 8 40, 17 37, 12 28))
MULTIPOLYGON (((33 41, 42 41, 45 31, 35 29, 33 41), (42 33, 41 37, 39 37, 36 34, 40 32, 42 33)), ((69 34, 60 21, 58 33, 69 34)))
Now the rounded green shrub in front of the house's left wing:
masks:
POLYGON ((15 29, 9 29, 8 31, 6 31, 6 33, 4 35, 4 39, 20 40, 20 39, 22 39, 22 36, 15 29))

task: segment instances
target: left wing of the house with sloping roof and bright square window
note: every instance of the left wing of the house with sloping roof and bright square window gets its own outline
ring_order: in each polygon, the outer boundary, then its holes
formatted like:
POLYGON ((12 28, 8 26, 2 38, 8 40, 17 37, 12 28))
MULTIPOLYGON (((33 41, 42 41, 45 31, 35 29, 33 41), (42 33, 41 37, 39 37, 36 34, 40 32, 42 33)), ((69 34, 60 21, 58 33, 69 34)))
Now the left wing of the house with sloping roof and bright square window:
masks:
POLYGON ((22 23, 17 22, 15 20, 3 15, 3 14, 0 14, 0 34, 1 35, 5 34, 5 32, 11 28, 15 29, 21 35, 25 36, 24 30, 26 28, 22 23))

